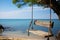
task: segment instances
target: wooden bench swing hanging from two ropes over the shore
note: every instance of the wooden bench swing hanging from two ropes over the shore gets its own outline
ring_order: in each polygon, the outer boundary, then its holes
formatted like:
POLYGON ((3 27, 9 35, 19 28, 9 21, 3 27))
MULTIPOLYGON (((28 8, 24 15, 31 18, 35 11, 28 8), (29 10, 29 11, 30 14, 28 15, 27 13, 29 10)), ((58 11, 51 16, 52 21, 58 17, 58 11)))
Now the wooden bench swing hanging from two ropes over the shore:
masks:
MULTIPOLYGON (((50 4, 51 4, 51 0, 50 0, 50 4)), ((32 2, 32 21, 31 21, 29 28, 28 28, 28 36, 30 35, 30 32, 33 34, 36 34, 38 36, 41 36, 41 37, 48 37, 48 39, 50 36, 53 36, 52 28, 53 28, 54 22, 51 21, 51 9, 50 9, 50 21, 35 20, 34 24, 48 28, 48 32, 33 29, 33 2, 32 2), (32 28, 32 30, 30 28, 32 28)))

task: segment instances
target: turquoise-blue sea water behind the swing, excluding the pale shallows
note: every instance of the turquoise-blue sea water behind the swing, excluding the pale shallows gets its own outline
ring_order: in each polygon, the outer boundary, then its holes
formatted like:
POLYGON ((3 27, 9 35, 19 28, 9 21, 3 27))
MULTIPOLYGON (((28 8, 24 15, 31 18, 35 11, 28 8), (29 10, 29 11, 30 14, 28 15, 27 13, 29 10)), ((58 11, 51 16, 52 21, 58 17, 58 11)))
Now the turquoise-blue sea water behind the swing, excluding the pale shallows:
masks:
MULTIPOLYGON (((49 21, 48 19, 40 19, 41 21, 49 21)), ((60 20, 54 19, 54 27, 52 29, 53 34, 57 34, 57 32, 60 30, 60 20)), ((4 27, 9 27, 5 30, 6 31, 22 31, 26 32, 26 30, 29 28, 31 20, 30 19, 0 19, 0 24, 4 27)), ((48 31, 48 28, 33 25, 34 29, 36 30, 43 30, 48 31)))

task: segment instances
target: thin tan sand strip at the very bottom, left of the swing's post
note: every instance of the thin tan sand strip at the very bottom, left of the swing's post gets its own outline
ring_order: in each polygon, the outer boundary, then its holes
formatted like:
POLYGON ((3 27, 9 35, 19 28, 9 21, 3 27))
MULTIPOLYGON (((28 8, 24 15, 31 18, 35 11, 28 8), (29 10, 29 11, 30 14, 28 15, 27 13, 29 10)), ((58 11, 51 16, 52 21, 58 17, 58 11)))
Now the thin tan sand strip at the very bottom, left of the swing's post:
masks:
POLYGON ((28 37, 6 37, 6 36, 0 36, 0 40, 42 40, 42 39, 28 38, 28 37))

